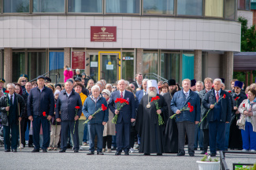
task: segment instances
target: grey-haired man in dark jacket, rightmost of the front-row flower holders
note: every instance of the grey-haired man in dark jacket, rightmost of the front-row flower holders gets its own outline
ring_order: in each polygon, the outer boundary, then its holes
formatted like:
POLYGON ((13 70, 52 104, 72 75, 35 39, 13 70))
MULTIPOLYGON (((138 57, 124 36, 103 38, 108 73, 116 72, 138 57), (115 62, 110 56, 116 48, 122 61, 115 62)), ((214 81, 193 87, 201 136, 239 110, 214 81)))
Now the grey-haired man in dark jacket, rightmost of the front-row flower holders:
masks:
POLYGON ((203 107, 211 109, 208 113, 210 156, 216 156, 216 142, 219 144, 219 150, 224 150, 225 144, 225 124, 231 120, 231 101, 230 94, 221 90, 221 79, 214 79, 214 90, 206 94, 202 101, 203 107), (224 98, 224 96, 226 96, 224 98), (216 105, 214 103, 217 102, 216 105))

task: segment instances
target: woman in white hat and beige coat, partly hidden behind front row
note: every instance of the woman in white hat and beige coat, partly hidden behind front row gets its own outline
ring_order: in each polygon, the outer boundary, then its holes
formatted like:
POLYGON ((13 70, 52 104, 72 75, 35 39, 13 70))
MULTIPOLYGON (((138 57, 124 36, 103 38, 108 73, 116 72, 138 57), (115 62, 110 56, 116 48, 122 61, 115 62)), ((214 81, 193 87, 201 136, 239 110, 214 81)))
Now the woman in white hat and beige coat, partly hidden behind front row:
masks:
MULTIPOLYGON (((105 89, 104 91, 102 91, 102 96, 106 98, 107 104, 109 104, 110 94, 111 93, 109 90, 105 89)), ((108 153, 111 152, 112 136, 116 135, 116 127, 115 127, 115 124, 112 123, 112 119, 113 119, 113 113, 109 109, 109 121, 105 124, 104 131, 103 131, 103 152, 106 151, 106 143, 107 143, 108 153)))

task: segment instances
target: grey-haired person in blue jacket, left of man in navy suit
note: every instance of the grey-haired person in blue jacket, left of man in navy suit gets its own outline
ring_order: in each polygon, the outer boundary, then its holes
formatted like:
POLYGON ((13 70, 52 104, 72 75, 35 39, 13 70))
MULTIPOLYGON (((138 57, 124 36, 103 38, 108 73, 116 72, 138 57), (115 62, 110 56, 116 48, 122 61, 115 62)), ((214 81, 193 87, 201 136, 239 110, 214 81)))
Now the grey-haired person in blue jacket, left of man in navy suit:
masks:
POLYGON ((97 154, 104 155, 104 153, 102 153, 103 129, 104 125, 109 120, 109 109, 100 111, 95 116, 91 116, 98 109, 102 108, 102 104, 107 106, 106 99, 102 98, 102 95, 100 95, 100 88, 97 85, 91 87, 91 93, 91 96, 83 103, 82 109, 84 116, 89 119, 87 126, 90 136, 90 151, 87 155, 95 154, 95 135, 97 135, 98 138, 97 154))

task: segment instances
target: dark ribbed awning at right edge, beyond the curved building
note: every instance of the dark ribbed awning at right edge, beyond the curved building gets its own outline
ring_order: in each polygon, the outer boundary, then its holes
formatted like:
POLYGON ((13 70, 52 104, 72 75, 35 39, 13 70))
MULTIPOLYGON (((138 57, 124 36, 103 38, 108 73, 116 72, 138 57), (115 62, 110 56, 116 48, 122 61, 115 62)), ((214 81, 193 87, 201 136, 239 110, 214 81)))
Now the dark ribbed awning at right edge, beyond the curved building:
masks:
POLYGON ((234 71, 252 71, 256 69, 256 52, 234 54, 234 71))

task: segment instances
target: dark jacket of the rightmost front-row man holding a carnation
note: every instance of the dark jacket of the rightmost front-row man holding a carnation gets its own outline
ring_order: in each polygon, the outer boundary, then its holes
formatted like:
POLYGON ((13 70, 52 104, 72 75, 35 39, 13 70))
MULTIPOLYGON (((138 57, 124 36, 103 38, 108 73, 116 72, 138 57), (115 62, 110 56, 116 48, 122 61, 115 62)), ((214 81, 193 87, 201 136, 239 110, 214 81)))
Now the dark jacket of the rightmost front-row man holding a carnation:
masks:
MULTIPOLYGON (((230 94, 227 91, 222 91, 221 90, 221 121, 222 122, 230 122, 231 120, 231 99, 230 99, 230 94), (226 98, 222 98, 223 95, 226 94, 226 98), (221 99, 222 98, 222 99, 221 99)), ((215 97, 215 90, 210 91, 209 93, 206 94, 205 98, 202 101, 203 107, 205 107, 207 110, 210 109, 210 105, 213 105, 216 102, 216 97, 215 97)), ((210 112, 208 113, 207 120, 213 121, 214 120, 214 109, 211 109, 210 112)))

